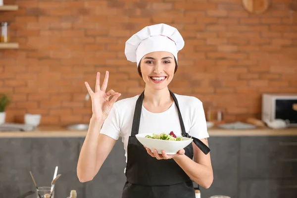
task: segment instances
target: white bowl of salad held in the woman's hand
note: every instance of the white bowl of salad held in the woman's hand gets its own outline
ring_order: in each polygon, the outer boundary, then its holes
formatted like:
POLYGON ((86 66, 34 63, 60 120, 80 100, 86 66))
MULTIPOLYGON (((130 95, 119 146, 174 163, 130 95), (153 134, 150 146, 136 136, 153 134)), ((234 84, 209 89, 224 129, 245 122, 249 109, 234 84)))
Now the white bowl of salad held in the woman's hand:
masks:
POLYGON ((161 150, 164 150, 166 154, 176 154, 180 149, 187 147, 192 143, 192 138, 183 137, 183 141, 171 141, 171 140, 158 140, 152 138, 146 138, 146 136, 152 136, 151 133, 137 134, 137 140, 149 148, 151 151, 157 150, 159 154, 162 154, 161 150))

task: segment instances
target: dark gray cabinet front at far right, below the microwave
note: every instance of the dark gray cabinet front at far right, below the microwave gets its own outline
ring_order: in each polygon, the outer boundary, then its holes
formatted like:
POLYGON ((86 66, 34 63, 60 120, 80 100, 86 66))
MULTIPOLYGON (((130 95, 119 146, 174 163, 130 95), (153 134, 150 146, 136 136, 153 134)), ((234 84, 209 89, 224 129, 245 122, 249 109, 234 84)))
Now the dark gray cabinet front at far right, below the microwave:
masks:
POLYGON ((240 176, 297 178, 297 137, 242 137, 240 176))

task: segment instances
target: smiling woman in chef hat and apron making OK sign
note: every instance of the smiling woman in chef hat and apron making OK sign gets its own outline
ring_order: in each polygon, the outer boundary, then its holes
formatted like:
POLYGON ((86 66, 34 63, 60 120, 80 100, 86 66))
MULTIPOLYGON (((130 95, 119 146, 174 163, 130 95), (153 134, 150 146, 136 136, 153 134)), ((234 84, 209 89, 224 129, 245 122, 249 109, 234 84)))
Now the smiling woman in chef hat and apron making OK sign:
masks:
POLYGON ((176 28, 166 24, 145 27, 126 42, 125 48, 127 59, 137 62, 145 81, 141 95, 116 102, 121 94, 106 92, 107 71, 101 87, 98 72, 95 92, 86 82, 93 115, 77 165, 81 182, 95 177, 121 136, 127 162, 122 198, 195 198, 192 180, 210 187, 213 173, 202 102, 168 89, 177 70, 177 53, 183 47, 184 40, 176 28), (135 137, 138 133, 171 131, 194 141, 167 155, 164 151, 151 152, 135 137))

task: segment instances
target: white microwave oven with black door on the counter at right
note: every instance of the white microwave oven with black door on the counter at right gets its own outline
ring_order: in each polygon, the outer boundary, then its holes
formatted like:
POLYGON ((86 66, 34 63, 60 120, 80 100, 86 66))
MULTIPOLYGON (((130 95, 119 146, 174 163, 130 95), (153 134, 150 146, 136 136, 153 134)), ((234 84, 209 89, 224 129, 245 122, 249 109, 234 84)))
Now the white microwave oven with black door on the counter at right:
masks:
POLYGON ((262 121, 282 119, 297 127, 297 94, 263 94, 262 121))

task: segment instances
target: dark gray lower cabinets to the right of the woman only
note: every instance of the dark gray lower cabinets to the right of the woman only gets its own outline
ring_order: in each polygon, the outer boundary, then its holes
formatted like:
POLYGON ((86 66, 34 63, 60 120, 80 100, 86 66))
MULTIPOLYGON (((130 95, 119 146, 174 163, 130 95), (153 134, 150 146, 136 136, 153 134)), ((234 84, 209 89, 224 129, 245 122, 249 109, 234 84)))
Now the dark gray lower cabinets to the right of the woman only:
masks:
POLYGON ((209 139, 214 181, 201 197, 297 198, 297 137, 209 139))

